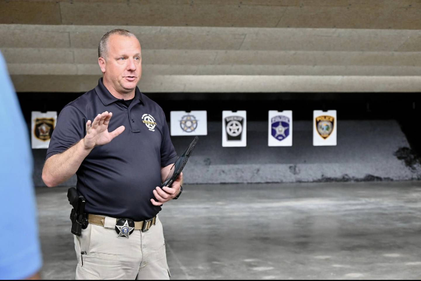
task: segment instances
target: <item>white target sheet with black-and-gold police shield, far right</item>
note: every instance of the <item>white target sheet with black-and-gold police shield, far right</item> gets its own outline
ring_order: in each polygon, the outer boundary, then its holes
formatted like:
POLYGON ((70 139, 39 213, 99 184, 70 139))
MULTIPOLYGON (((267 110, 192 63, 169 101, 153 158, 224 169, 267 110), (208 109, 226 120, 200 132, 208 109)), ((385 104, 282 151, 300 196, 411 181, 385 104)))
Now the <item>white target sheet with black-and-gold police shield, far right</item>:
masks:
POLYGON ((336 146, 336 110, 313 111, 313 146, 336 146))

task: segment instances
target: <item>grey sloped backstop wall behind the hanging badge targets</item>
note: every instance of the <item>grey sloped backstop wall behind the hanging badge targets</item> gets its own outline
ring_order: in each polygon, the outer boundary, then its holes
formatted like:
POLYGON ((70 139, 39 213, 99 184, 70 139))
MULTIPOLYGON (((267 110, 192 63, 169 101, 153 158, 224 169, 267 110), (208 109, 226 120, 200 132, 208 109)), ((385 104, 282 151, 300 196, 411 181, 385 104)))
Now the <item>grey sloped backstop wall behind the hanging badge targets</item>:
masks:
MULTIPOLYGON (((184 170, 185 183, 280 183, 421 179, 408 141, 394 120, 338 120, 338 146, 312 146, 312 122, 296 121, 292 147, 268 147, 267 123, 248 122, 247 147, 221 147, 221 123, 208 122, 184 170), (406 160, 406 162, 405 162, 406 160)), ((172 137, 180 154, 191 137, 172 137)), ((33 150, 34 181, 45 149, 33 150)), ((141 169, 142 167, 139 167, 141 169)), ((63 186, 75 185, 75 177, 63 186)))

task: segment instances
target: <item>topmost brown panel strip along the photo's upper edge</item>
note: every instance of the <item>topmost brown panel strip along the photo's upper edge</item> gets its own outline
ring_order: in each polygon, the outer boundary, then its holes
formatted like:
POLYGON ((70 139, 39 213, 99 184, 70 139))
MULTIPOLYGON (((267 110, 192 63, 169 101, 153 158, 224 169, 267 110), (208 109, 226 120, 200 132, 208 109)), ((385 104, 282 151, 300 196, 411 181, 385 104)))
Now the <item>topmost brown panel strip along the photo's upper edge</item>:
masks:
POLYGON ((419 0, 1 0, 0 11, 0 24, 373 29, 421 25, 419 0))

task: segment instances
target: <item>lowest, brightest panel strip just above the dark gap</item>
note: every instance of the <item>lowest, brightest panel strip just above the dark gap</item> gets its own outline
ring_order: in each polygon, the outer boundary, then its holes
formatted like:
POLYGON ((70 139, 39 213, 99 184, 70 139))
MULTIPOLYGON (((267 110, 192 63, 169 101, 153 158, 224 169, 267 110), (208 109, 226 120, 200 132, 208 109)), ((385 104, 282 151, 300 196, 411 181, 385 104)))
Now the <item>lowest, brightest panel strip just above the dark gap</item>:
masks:
MULTIPOLYGON (((18 92, 83 93, 98 75, 11 75, 18 92)), ((151 75, 139 83, 144 93, 317 93, 419 92, 420 76, 276 76, 276 75, 151 75)))

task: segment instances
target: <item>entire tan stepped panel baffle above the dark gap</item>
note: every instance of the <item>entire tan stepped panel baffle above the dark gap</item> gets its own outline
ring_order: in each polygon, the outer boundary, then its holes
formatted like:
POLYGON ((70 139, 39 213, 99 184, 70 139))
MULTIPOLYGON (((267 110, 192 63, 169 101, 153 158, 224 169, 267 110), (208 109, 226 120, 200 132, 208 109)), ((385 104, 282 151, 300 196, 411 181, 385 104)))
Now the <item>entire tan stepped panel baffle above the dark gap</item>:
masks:
POLYGON ((85 92, 101 36, 143 50, 144 92, 419 92, 420 0, 0 0, 19 92, 85 92))

